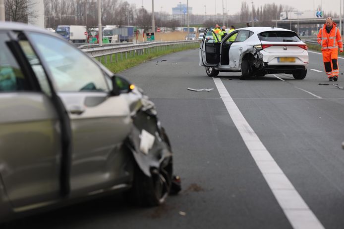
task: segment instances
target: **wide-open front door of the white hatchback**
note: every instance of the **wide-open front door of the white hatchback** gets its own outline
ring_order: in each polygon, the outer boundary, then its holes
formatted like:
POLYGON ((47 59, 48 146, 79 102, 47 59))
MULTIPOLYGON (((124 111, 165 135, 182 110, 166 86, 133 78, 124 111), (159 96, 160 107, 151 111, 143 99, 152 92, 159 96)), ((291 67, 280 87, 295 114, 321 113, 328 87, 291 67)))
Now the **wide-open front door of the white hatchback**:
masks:
POLYGON ((220 63, 220 47, 216 33, 207 29, 204 33, 199 50, 200 66, 215 67, 220 63))

